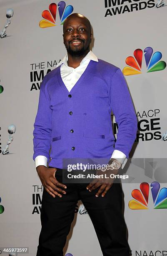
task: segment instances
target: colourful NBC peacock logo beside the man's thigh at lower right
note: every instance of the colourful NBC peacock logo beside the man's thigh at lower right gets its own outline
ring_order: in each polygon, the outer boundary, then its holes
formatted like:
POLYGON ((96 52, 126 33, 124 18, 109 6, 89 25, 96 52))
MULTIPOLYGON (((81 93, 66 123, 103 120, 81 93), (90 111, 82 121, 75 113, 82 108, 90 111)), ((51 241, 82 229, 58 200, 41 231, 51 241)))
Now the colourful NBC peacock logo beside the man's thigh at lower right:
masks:
POLYGON ((152 200, 154 202, 154 209, 167 209, 167 188, 160 189, 159 182, 152 182, 149 185, 147 182, 140 184, 140 190, 134 189, 132 197, 135 200, 130 200, 129 207, 132 210, 148 209, 149 191, 151 187, 152 200))

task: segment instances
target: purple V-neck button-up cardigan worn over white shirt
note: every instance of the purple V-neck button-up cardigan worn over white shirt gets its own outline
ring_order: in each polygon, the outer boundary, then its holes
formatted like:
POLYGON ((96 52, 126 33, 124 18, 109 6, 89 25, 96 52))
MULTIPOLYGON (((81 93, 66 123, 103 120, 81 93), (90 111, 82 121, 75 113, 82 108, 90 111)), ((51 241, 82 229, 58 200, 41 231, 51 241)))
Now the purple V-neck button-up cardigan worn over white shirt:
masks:
POLYGON ((114 149, 129 158, 136 133, 130 92, 115 65, 102 59, 90 60, 70 93, 62 81, 60 66, 43 78, 33 131, 33 160, 46 156, 48 161, 51 158, 49 166, 62 169, 63 158, 109 161, 114 149), (111 111, 118 125, 116 142, 111 111))

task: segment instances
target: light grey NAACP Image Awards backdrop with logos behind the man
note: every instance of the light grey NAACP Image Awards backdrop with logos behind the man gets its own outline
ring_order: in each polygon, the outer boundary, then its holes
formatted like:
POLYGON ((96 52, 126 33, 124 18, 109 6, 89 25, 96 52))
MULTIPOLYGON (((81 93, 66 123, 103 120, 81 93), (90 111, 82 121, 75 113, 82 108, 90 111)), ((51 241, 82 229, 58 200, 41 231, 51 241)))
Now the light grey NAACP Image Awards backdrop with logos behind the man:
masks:
MULTIPOLYGON (((71 13, 90 20, 90 49, 120 67, 136 110, 137 138, 122 172, 130 176, 122 180, 130 255, 165 256, 167 0, 0 1, 0 247, 36 255, 43 188, 32 159, 33 124, 42 79, 66 54, 62 24, 71 13)), ((102 256, 82 202, 64 255, 102 256)))

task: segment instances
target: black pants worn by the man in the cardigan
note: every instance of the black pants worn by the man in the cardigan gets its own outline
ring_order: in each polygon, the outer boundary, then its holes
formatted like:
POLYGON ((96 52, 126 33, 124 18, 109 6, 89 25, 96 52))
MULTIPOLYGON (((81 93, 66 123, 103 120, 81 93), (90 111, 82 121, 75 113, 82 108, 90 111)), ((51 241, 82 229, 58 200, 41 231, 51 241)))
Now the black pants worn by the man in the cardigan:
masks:
MULTIPOLYGON (((62 182, 62 169, 57 169, 55 177, 62 182)), ((67 189, 64 189, 66 195, 55 198, 43 189, 40 215, 42 228, 37 256, 63 256, 62 250, 70 232, 78 200, 82 200, 92 220, 103 256, 129 256, 125 221, 121 211, 120 183, 114 183, 105 197, 95 197, 99 188, 89 192, 86 189, 87 184, 67 183, 67 189)))

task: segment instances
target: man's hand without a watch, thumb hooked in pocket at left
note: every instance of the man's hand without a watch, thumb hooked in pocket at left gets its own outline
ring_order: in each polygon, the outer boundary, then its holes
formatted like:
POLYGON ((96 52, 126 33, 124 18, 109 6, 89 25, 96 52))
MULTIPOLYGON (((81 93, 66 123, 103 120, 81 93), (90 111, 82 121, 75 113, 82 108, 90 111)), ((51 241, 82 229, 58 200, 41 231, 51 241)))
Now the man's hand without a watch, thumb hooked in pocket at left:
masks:
POLYGON ((63 193, 66 194, 66 192, 62 188, 67 188, 64 184, 60 183, 56 178, 55 178, 55 173, 57 171, 56 168, 47 168, 44 165, 39 165, 36 167, 37 173, 40 177, 40 180, 42 182, 43 187, 45 187, 46 191, 52 195, 52 197, 59 196, 62 197, 61 194, 63 193))

